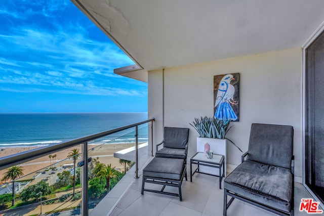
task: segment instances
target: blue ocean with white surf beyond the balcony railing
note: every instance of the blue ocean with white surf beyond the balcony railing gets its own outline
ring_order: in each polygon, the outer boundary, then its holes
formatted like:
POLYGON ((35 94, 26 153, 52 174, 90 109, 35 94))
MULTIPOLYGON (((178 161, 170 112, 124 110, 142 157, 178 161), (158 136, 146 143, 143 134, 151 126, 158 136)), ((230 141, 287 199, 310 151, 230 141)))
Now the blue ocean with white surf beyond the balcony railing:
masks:
MULTIPOLYGON (((0 148, 41 147, 144 121, 147 113, 17 113, 0 114, 0 148)), ((139 126, 139 142, 147 141, 147 124, 139 126)), ((134 128, 89 144, 131 143, 134 128)))

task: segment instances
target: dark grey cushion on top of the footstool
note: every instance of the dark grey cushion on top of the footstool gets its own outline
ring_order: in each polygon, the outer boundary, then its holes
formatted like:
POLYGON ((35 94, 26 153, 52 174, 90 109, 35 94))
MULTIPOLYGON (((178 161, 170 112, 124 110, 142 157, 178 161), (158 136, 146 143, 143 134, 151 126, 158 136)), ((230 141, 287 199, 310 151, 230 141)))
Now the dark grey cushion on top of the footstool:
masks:
POLYGON ((154 157, 143 169, 143 176, 181 180, 184 159, 154 157))

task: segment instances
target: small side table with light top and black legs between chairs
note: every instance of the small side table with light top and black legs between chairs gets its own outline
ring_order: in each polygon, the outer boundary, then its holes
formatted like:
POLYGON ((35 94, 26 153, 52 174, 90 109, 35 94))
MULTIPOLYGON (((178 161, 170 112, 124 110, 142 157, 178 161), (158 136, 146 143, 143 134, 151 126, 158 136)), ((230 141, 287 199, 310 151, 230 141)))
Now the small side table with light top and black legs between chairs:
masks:
POLYGON ((192 176, 196 173, 206 174, 210 176, 219 177, 219 189, 222 189, 222 179, 224 177, 224 155, 213 154, 213 158, 208 159, 204 152, 197 152, 190 158, 190 182, 192 176), (192 172, 192 164, 197 164, 197 168, 192 172), (199 171, 199 166, 210 166, 219 168, 219 175, 209 174, 207 172, 199 171), (223 167, 223 172, 222 172, 223 167))

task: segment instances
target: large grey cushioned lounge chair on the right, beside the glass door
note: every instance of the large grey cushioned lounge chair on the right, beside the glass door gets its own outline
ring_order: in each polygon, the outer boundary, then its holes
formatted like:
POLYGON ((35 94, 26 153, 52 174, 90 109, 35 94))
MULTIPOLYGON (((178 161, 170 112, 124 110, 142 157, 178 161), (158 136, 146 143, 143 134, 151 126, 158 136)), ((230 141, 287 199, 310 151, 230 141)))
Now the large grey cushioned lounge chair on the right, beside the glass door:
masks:
POLYGON ((293 134, 292 126, 252 124, 249 150, 224 180, 224 216, 234 198, 294 215, 293 134))

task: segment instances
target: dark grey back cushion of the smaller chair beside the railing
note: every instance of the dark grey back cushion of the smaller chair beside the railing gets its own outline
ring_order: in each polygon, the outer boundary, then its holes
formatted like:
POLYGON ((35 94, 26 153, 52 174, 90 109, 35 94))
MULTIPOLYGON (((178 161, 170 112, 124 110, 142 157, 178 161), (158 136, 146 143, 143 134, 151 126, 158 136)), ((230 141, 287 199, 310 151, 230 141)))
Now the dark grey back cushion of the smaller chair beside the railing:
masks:
POLYGON ((188 143, 189 128, 165 127, 164 147, 185 149, 188 143))

